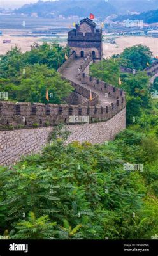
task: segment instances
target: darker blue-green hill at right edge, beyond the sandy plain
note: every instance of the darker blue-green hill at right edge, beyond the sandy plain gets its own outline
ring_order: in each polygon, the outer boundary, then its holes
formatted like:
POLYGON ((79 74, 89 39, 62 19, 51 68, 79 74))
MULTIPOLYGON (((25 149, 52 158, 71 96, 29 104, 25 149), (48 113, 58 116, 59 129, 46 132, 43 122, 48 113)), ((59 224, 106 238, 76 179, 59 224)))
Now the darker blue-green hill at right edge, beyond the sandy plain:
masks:
POLYGON ((156 23, 158 22, 158 10, 152 10, 148 12, 140 13, 139 15, 124 15, 119 16, 114 21, 123 21, 123 20, 143 20, 145 23, 156 23))

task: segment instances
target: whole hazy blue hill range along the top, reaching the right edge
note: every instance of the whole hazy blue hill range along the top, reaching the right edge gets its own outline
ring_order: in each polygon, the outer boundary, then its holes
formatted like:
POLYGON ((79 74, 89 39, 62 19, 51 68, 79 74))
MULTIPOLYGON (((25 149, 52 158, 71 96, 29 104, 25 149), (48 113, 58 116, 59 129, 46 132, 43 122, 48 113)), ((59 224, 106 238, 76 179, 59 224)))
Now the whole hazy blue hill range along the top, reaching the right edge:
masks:
POLYGON ((38 1, 35 4, 25 4, 14 12, 17 14, 38 13, 40 17, 52 15, 78 15, 87 16, 90 12, 96 17, 105 18, 111 14, 127 14, 127 12, 146 12, 158 8, 158 0, 59 0, 38 1), (54 14, 53 14, 54 13, 54 14))

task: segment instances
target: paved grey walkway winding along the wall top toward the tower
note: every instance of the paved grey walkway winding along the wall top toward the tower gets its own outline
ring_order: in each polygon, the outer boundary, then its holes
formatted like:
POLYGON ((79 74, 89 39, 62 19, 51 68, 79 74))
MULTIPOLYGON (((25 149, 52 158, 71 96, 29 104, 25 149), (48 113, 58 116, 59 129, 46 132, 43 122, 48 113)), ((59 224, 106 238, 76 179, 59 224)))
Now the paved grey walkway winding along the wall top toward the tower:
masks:
POLYGON ((64 68, 64 70, 61 72, 62 76, 96 93, 99 96, 99 104, 97 104, 96 106, 104 107, 104 106, 107 106, 108 104, 111 105, 111 103, 115 103, 116 99, 110 96, 107 97, 107 93, 99 92, 96 88, 92 88, 87 84, 83 84, 77 79, 77 70, 78 68, 80 68, 80 65, 83 60, 84 58, 75 58, 75 60, 69 63, 68 67, 64 68))

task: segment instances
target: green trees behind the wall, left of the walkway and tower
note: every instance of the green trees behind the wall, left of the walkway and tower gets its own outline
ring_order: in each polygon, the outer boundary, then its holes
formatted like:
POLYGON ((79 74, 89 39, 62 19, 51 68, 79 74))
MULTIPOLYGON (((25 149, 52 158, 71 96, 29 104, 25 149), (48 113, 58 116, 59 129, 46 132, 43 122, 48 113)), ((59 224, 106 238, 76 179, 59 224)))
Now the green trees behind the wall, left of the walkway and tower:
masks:
POLYGON ((58 44, 34 44, 24 54, 14 47, 1 56, 0 91, 8 92, 11 101, 47 103, 48 88, 50 103, 64 102, 64 97, 73 90, 56 72, 65 54, 69 54, 69 49, 58 44))

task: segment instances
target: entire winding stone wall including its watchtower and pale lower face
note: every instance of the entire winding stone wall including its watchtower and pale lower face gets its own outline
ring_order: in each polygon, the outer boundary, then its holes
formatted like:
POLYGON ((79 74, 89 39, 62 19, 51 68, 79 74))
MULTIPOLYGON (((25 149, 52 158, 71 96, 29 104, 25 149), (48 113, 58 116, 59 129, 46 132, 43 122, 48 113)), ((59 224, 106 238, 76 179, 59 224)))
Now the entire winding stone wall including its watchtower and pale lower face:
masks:
MULTIPOLYGON (((91 21, 90 21, 91 22, 91 21)), ((90 23, 88 20, 88 23, 90 23)), ((93 22, 94 23, 94 22, 93 22)), ((70 31, 68 42, 71 42, 71 56, 59 68, 62 79, 67 79, 73 86, 74 92, 69 95, 68 104, 41 104, 0 102, 0 165, 16 163, 22 156, 40 152, 47 144, 48 137, 55 125, 63 123, 71 132, 66 143, 71 141, 89 141, 90 143, 104 143, 112 140, 115 135, 126 128, 126 95, 123 90, 89 76, 89 65, 93 61, 101 60, 101 40, 90 37, 86 19, 80 24, 85 33, 80 33, 78 39, 80 47, 73 47, 70 31), (83 26, 82 26, 83 25, 83 26), (69 37, 70 36, 70 37, 69 37), (92 48, 92 40, 96 40, 96 48, 92 48), (87 42, 90 47, 87 50, 87 42), (84 45, 85 48, 84 48, 84 45), (100 45, 100 46, 99 46, 100 45), (94 51, 95 50, 95 51, 94 51), (83 55, 83 56, 82 56, 83 55), (80 72, 78 74, 78 69, 80 72), (90 100, 92 93, 92 100, 90 100), (70 122, 70 116, 88 116, 89 122, 70 122)), ((76 31, 78 26, 76 25, 76 31)), ((97 35, 100 33, 96 32, 97 35)), ((73 39, 72 39, 73 40, 73 39)), ((77 41, 78 41, 77 40, 77 41)), ((95 44, 94 44, 95 45, 95 44)), ((124 70, 128 72, 129 70, 124 70)), ((131 72, 131 71, 130 71, 131 72)), ((157 74, 158 63, 148 67, 148 75, 157 74)))

